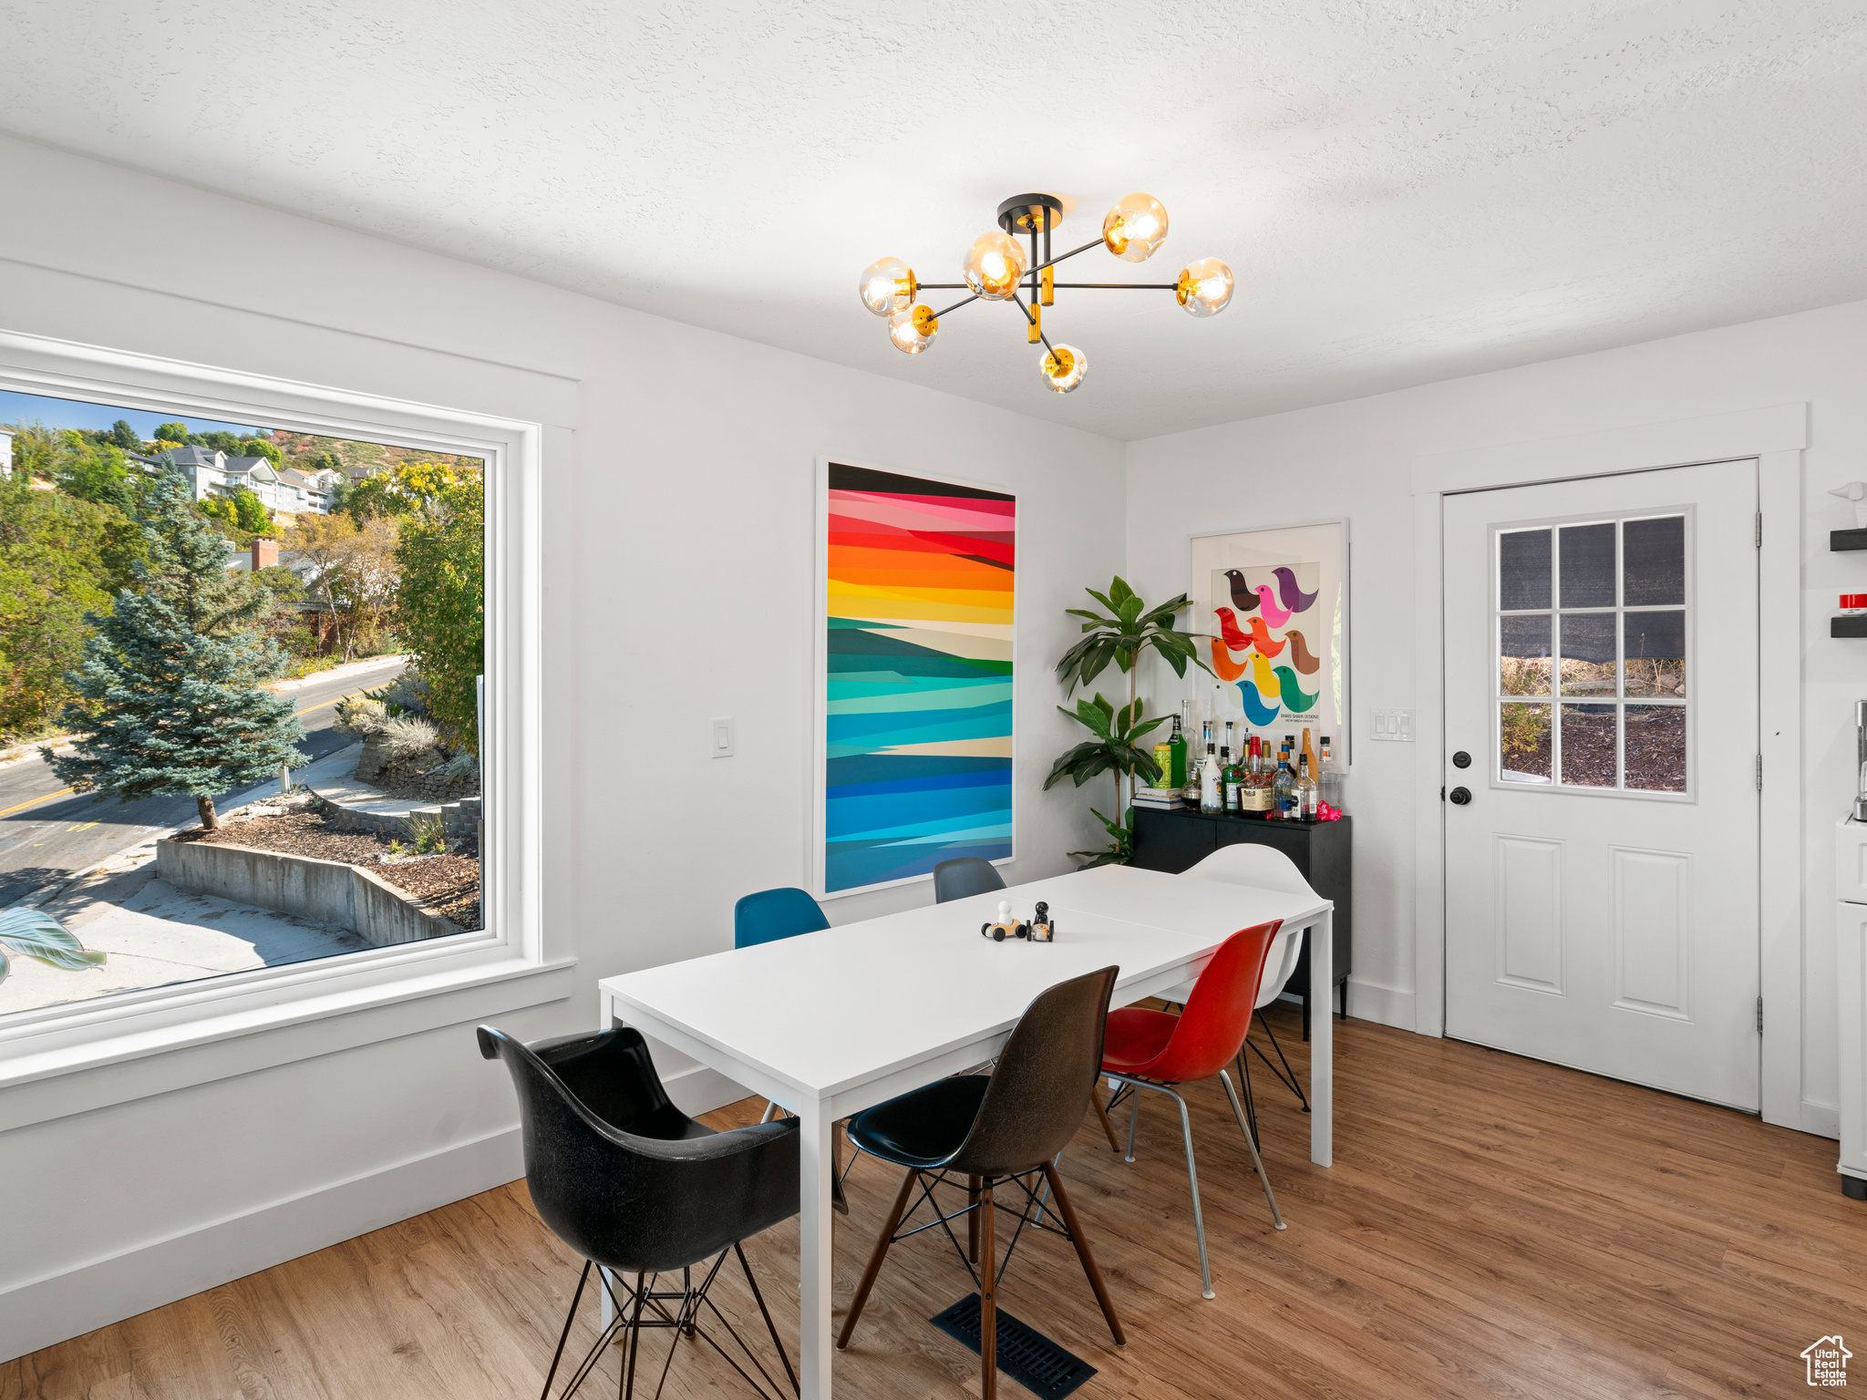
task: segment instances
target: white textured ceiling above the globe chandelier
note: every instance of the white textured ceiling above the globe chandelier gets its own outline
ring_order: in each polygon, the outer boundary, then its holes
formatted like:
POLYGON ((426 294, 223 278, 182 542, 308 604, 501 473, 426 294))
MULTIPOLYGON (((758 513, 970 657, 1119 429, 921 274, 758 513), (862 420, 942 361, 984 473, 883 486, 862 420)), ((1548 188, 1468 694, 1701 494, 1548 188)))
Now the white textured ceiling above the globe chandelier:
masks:
POLYGON ((0 129, 1120 439, 1867 297, 1860 2, 0 0, 0 129), (1068 280, 1221 256, 1238 295, 1059 293, 1070 396, 1010 306, 907 357, 857 301, 883 254, 958 282, 1006 194, 1072 200, 1074 246, 1135 189, 1161 252, 1068 280))

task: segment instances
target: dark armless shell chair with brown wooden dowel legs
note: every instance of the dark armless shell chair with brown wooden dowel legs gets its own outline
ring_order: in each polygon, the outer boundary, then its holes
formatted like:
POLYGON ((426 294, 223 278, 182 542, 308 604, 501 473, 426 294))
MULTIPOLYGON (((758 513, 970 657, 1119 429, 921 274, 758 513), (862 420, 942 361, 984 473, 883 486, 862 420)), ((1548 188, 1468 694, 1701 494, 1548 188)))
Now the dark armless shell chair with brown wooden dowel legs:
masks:
POLYGON ((1075 1217, 1070 1197, 1062 1189, 1057 1174, 1057 1155, 1064 1150, 1075 1129, 1088 1113, 1090 1096, 1096 1086, 1096 1073, 1102 1068, 1102 1029, 1109 1017, 1109 995, 1115 991, 1115 967, 1100 973, 1059 982, 1047 989, 1025 1014, 1018 1017, 1010 1040, 999 1051, 997 1066, 990 1075, 960 1075, 941 1079, 924 1088, 917 1088, 874 1109, 859 1113, 849 1120, 849 1139, 863 1152, 872 1152, 883 1161, 892 1161, 905 1169, 902 1189, 889 1210, 889 1221, 876 1239, 876 1249, 863 1271, 863 1282, 849 1299, 849 1316, 844 1318, 836 1346, 846 1348, 855 1331, 857 1318, 868 1292, 881 1273, 881 1260, 889 1245, 905 1239, 909 1234, 939 1225, 973 1281, 978 1284, 980 1303, 980 1379, 986 1400, 997 1396, 997 1288, 999 1279, 1012 1262, 1012 1251, 1023 1230, 1034 1228, 1062 1234, 1075 1245, 1075 1256, 1088 1275, 1088 1286, 1102 1305, 1102 1316, 1109 1320, 1109 1331, 1116 1346, 1126 1346, 1122 1323, 1115 1316, 1115 1303, 1102 1282, 1096 1260, 1088 1253, 1088 1238, 1075 1217), (1044 1200, 1031 1189, 1025 1178, 1044 1176, 1046 1193, 1057 1198, 1057 1213, 1062 1215, 1062 1228, 1044 1223, 1044 1200), (963 1210, 943 1213, 934 1200, 934 1187, 950 1178, 965 1178, 967 1204, 963 1210), (1001 1206, 995 1200, 997 1189, 1006 1182, 1023 1191, 1021 1206, 1001 1206), (915 1189, 920 1200, 909 1206, 915 1189), (902 1225, 922 1204, 932 1208, 928 1225, 902 1230, 902 1225), (993 1267, 997 1245, 993 1239, 995 1213, 1003 1210, 1018 1217, 1018 1230, 1004 1251, 1004 1260, 993 1267), (967 1243, 960 1249, 960 1239, 952 1234, 950 1221, 967 1219, 967 1243), (984 1267, 975 1271, 980 1249, 984 1249, 984 1267))

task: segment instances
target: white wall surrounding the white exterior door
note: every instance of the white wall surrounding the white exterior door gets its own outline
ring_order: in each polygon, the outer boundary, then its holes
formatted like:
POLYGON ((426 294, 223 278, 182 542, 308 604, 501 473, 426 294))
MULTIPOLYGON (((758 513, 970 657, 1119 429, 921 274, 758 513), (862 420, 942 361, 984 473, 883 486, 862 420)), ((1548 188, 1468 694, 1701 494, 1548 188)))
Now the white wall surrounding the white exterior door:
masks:
MULTIPOLYGON (((1482 446, 1807 401, 1800 661, 1805 805, 1770 819, 1804 825, 1804 1116, 1828 1127, 1837 1101, 1830 829, 1854 784, 1852 700, 1867 696, 1867 642, 1832 640, 1835 595, 1867 586, 1867 564, 1830 554, 1852 525, 1832 485, 1867 478, 1867 302, 1725 327, 1598 355, 1331 403, 1128 446, 1130 582, 1187 586, 1187 534, 1348 517, 1354 648, 1355 1015, 1413 1027, 1415 747, 1370 743, 1370 709, 1413 709, 1413 500, 1410 459, 1482 446)), ((1768 670, 1768 665, 1766 665, 1768 670)), ((1787 679, 1787 678, 1785 678, 1787 679)), ((1154 678, 1154 702, 1180 694, 1154 678)), ((1749 762, 1749 749, 1742 750, 1749 762)))

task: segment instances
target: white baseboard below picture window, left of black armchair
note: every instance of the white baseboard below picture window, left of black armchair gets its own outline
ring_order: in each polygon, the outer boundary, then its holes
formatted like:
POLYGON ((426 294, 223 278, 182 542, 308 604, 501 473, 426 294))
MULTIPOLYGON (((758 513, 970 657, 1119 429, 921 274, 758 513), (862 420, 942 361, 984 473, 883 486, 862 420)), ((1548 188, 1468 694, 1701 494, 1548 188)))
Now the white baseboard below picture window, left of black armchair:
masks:
POLYGON ((0 1363, 525 1176, 519 1129, 411 1157, 0 1292, 0 1363))

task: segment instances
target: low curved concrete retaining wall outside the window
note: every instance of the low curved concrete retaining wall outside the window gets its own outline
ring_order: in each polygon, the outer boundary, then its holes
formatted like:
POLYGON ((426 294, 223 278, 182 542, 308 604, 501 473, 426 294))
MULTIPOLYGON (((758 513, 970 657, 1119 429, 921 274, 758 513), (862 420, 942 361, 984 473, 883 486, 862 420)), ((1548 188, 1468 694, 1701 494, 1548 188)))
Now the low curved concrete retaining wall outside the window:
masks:
POLYGON ((377 948, 459 933, 452 920, 428 913, 407 890, 338 861, 166 840, 155 844, 155 870, 177 890, 347 928, 377 948))

